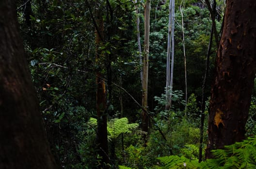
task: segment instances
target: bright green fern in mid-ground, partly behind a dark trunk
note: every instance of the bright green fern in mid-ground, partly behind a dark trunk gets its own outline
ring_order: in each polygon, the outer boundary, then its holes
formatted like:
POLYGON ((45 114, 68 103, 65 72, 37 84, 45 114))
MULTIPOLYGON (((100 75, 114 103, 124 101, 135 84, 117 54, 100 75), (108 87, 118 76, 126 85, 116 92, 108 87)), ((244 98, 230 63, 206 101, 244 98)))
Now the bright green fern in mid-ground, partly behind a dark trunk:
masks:
MULTIPOLYGON (((118 119, 118 118, 111 119, 108 122, 108 126, 107 126, 108 139, 110 141, 117 139, 117 137, 120 134, 130 133, 132 129, 135 129, 139 126, 138 123, 131 123, 131 124, 128 124, 128 123, 129 123, 129 121, 126 117, 120 118, 120 119, 118 119)), ((90 120, 88 121, 88 124, 91 127, 96 128, 97 127, 97 119, 91 117, 90 120)))

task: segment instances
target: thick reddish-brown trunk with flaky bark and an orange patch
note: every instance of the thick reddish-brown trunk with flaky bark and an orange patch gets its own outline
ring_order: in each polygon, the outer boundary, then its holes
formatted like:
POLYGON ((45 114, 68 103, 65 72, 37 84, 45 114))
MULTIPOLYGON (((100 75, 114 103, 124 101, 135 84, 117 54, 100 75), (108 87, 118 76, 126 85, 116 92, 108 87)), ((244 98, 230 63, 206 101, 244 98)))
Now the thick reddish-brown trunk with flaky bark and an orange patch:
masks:
POLYGON ((256 2, 228 0, 211 90, 206 157, 244 139, 256 73, 256 2))

